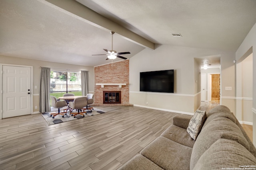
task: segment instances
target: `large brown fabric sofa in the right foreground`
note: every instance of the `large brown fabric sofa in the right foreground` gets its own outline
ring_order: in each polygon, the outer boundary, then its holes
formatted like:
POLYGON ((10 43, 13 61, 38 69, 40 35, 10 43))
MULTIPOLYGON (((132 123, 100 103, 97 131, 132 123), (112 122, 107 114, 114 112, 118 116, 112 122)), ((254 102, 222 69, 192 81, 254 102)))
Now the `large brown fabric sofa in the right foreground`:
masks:
POLYGON ((176 115, 172 125, 119 170, 256 169, 256 148, 226 106, 206 113, 201 131, 187 131, 191 115, 176 115))

